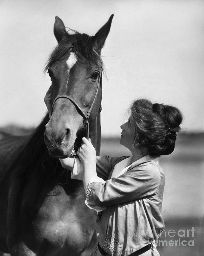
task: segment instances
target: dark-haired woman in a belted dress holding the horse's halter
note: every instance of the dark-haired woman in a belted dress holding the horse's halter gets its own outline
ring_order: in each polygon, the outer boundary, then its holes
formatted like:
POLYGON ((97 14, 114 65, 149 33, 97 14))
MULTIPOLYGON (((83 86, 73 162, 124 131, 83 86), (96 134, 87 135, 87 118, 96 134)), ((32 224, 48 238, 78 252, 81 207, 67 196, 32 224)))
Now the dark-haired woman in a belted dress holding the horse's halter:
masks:
MULTIPOLYGON (((49 94, 45 103, 50 110, 49 94)), ((120 143, 130 157, 96 157, 91 140, 83 138, 75 162, 60 159, 72 178, 83 180, 85 203, 98 212, 92 256, 159 255, 165 184, 159 157, 173 152, 181 122, 182 114, 173 106, 135 100, 128 122, 121 125, 120 143)))

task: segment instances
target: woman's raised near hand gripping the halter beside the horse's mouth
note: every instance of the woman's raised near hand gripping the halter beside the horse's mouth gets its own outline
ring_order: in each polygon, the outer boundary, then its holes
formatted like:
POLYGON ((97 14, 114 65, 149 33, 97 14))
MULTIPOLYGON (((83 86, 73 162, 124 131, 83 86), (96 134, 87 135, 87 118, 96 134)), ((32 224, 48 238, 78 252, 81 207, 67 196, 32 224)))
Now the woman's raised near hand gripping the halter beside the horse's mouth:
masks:
POLYGON ((83 165, 86 164, 96 164, 96 150, 94 146, 91 143, 91 139, 87 140, 87 138, 82 138, 82 145, 79 148, 77 154, 83 163, 83 165))

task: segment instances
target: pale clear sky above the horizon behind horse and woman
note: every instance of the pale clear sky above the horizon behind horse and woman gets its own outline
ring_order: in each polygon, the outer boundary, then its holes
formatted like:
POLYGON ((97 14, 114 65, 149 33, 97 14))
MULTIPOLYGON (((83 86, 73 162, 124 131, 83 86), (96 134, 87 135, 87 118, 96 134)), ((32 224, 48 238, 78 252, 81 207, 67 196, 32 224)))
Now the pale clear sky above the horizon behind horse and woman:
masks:
POLYGON ((183 132, 204 131, 204 1, 197 0, 1 0, 0 127, 37 126, 45 115, 55 16, 94 35, 112 13, 101 53, 102 135, 120 135, 136 98, 174 105, 183 132))

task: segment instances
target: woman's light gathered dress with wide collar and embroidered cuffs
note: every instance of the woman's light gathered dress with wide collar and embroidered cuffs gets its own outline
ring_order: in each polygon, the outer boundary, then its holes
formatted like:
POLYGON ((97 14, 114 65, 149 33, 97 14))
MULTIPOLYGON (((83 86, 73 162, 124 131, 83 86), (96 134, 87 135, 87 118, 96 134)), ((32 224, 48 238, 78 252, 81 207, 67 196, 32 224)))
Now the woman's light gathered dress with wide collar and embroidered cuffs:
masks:
MULTIPOLYGON (((156 243, 164 229, 161 207, 165 176, 159 157, 149 155, 131 163, 131 157, 97 157, 97 176, 90 180, 86 205, 98 212, 96 234, 100 246, 112 256, 127 256, 156 243)), ((83 180, 76 159, 73 179, 83 180)))

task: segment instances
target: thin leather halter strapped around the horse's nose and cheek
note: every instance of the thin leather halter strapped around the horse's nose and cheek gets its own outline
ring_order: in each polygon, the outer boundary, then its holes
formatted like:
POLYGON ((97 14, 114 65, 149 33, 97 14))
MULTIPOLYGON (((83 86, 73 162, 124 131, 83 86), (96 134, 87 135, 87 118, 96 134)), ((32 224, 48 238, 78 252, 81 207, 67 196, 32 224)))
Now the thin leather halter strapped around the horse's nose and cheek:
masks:
MULTIPOLYGON (((95 92, 95 95, 94 95, 94 99, 93 99, 93 101, 92 101, 92 103, 91 103, 91 107, 89 108, 89 110, 88 110, 87 113, 85 113, 85 112, 81 109, 81 107, 79 106, 79 104, 73 99, 72 96, 67 95, 67 94, 58 94, 58 95, 56 96, 56 98, 54 99, 53 103, 52 103, 52 110, 53 110, 53 107, 54 107, 54 103, 55 103, 56 100, 58 100, 59 98, 67 98, 68 100, 71 101, 71 103, 72 103, 73 105, 75 105, 75 107, 79 110, 81 116, 84 118, 84 125, 86 125, 86 138, 87 138, 87 139, 89 139, 89 122, 88 122, 88 119, 89 119, 89 116, 90 116, 90 114, 91 114, 91 111, 92 111, 92 108, 93 108, 93 106, 94 106, 94 103, 95 103, 95 101, 96 101, 96 96, 97 96, 97 94, 98 94, 99 83, 100 83, 100 86, 102 87, 102 71, 100 72, 100 75, 99 75, 99 78, 98 78, 98 84, 97 84, 96 92, 95 92)), ((102 107, 101 107, 101 105, 100 105, 100 108, 99 108, 99 110, 98 110, 98 113, 101 112, 101 109, 102 109, 102 107)), ((52 112, 51 112, 51 113, 52 113, 52 112)), ((72 153, 71 153, 71 156, 76 157, 77 154, 72 152, 72 153)))

